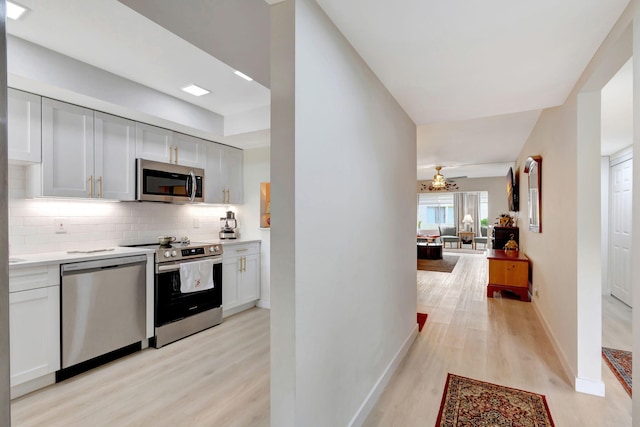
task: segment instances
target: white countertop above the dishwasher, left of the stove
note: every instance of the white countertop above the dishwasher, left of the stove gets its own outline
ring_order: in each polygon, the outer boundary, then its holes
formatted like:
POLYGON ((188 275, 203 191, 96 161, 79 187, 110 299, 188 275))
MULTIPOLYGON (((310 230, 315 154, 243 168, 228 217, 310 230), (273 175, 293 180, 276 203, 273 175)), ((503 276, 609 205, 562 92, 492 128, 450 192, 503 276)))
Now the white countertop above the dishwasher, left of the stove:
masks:
MULTIPOLYGON (((89 250, 91 251, 91 250, 89 250)), ((92 252, 43 252, 38 254, 13 255, 9 257, 9 270, 36 267, 47 264, 65 264, 69 262, 91 261, 96 259, 117 258, 128 255, 143 255, 154 253, 151 249, 146 248, 128 248, 114 246, 109 248, 96 248, 92 252), (19 262, 11 262, 11 260, 20 260, 19 262)))

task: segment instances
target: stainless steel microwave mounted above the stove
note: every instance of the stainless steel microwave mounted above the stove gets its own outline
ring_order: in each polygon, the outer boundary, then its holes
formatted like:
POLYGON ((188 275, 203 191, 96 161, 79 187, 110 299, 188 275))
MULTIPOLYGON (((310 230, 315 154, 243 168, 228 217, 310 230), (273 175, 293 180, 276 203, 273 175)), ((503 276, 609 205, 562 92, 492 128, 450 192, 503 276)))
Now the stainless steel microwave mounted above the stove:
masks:
POLYGON ((194 203, 203 195, 204 169, 136 159, 136 200, 194 203))

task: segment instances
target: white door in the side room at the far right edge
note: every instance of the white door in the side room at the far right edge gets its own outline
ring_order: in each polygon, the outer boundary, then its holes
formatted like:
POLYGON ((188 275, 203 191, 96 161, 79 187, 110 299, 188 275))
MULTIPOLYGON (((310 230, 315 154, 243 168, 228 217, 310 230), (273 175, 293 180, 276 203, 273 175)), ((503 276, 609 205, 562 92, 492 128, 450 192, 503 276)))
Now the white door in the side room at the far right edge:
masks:
POLYGON ((611 166, 609 287, 611 295, 631 306, 631 190, 633 160, 611 166))

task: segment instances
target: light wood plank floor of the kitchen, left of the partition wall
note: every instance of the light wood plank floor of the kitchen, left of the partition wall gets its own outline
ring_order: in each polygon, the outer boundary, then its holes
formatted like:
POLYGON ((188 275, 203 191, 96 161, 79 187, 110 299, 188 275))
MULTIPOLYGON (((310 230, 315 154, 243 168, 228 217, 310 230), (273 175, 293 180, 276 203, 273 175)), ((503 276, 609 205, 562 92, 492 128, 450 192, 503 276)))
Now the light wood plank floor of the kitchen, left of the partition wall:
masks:
POLYGON ((268 426, 269 311, 16 399, 13 426, 268 426))

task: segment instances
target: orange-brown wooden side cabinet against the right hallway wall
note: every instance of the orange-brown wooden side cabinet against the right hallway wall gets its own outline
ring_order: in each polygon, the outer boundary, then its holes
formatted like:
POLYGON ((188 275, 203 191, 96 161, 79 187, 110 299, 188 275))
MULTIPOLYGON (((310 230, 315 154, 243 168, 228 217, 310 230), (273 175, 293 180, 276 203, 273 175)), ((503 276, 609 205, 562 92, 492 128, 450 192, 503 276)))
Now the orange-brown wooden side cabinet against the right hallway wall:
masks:
POLYGON ((487 297, 496 291, 510 291, 522 301, 531 301, 529 295, 529 259, 519 251, 487 250, 489 283, 487 297))

